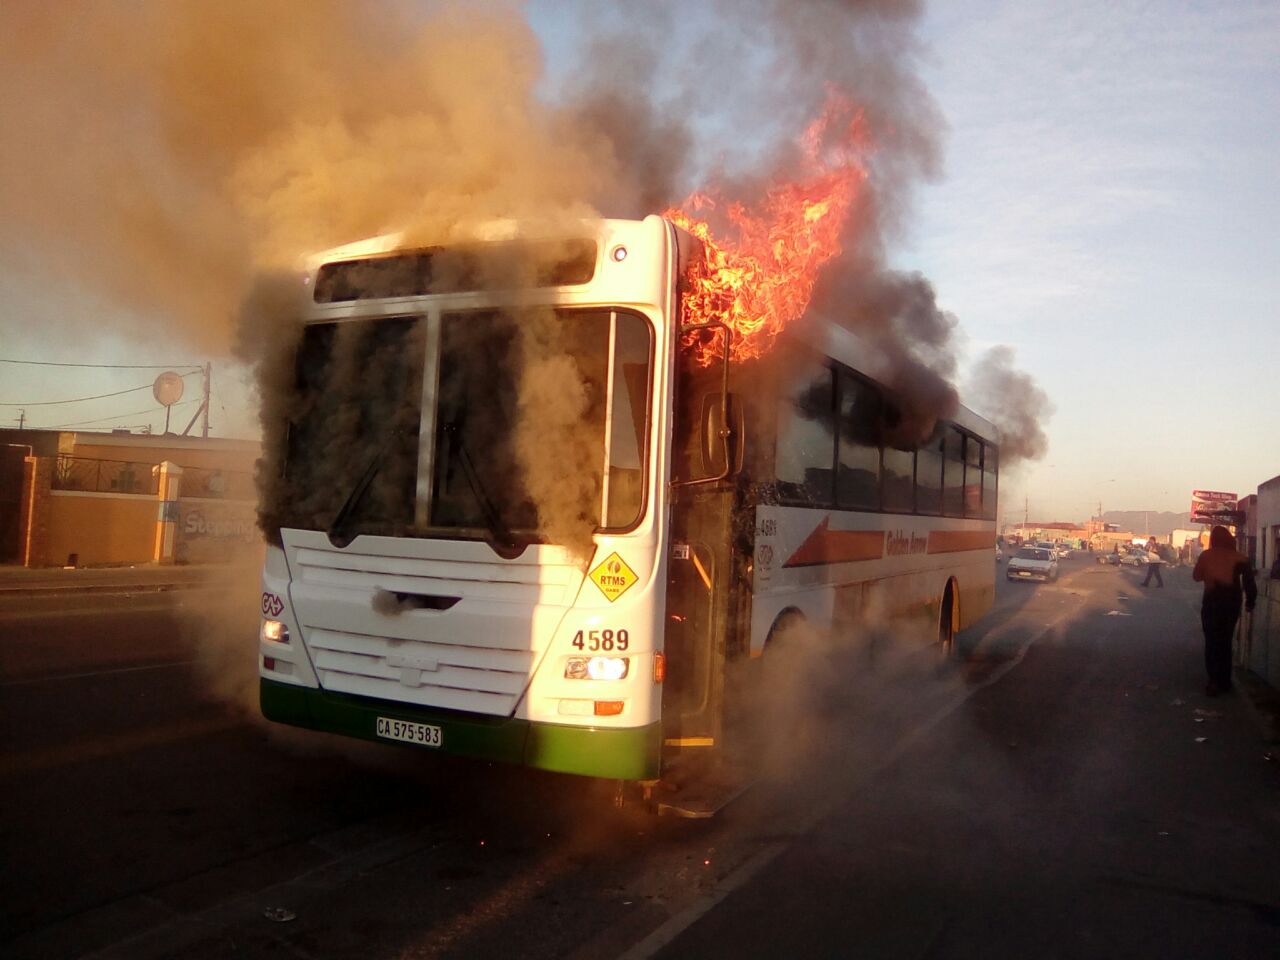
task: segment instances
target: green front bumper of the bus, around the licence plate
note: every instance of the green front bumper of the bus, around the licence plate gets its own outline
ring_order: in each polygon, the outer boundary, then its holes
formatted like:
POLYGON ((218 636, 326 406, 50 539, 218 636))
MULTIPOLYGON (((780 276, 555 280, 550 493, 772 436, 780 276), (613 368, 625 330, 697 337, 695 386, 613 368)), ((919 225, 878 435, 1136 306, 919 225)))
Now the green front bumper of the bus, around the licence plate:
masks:
MULTIPOLYGON (((260 680, 262 716, 276 723, 396 744, 378 736, 378 718, 429 723, 442 730, 443 753, 609 780, 657 780, 660 723, 648 727, 575 727, 509 717, 481 717, 413 704, 334 694, 260 680)), ((401 744, 403 745, 403 744, 401 744)))

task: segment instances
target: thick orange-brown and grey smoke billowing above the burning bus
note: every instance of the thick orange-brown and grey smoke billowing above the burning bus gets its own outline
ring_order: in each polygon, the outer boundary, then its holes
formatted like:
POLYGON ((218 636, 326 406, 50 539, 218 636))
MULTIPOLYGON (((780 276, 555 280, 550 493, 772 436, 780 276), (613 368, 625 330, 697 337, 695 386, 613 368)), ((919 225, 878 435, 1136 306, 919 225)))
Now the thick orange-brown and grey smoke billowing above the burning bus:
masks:
MULTIPOLYGON (((557 54, 577 60, 554 90, 513 0, 12 0, 0 252, 28 283, 77 287, 77 306, 87 293, 122 308, 129 326, 113 333, 225 353, 239 316, 292 323, 241 310, 257 274, 360 237, 643 215, 708 180, 750 201, 788 174, 796 133, 838 90, 872 148, 812 312, 879 348, 920 424, 948 413, 955 321, 927 280, 888 266, 914 187, 941 169, 920 4, 548 9, 573 28, 557 54)), ((54 334, 96 323, 51 312, 54 334)), ((242 342, 253 337, 275 343, 261 330, 242 342)), ((269 380, 287 365, 260 369, 269 380)))

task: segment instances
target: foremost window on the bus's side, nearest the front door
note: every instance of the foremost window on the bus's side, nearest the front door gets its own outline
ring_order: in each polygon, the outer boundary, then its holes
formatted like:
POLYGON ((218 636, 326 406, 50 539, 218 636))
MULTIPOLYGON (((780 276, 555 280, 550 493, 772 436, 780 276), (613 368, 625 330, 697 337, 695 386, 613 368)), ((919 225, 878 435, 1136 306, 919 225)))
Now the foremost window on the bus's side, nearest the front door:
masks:
POLYGON ((829 506, 836 449, 832 370, 809 362, 778 398, 774 476, 788 499, 829 506))

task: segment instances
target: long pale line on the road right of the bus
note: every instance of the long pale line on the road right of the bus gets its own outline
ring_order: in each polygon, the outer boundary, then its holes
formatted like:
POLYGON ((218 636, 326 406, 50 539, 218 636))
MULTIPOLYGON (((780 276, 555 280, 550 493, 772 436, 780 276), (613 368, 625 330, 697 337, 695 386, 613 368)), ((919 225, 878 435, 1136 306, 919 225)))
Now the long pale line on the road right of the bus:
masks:
POLYGON ((955 698, 951 703, 945 704, 934 716, 929 717, 922 722, 914 730, 904 733, 899 741, 892 746, 892 749, 882 756, 877 763, 864 769, 864 773, 855 778, 854 782, 845 790, 837 799, 831 800, 826 804, 818 804, 815 808, 810 808, 808 815, 799 818, 795 828, 795 835, 787 841, 773 841, 763 846, 758 852, 748 858, 740 867, 737 867, 732 873, 727 874, 723 881, 716 884, 716 890, 705 896, 695 900, 687 908, 680 913, 671 916, 666 923, 659 925, 657 929, 652 931, 644 940, 632 945, 626 952, 620 955, 618 960, 649 960, 654 954, 660 951, 667 945, 672 943, 676 937, 684 933, 686 929, 692 927, 699 919, 714 910, 730 893, 737 888, 745 886, 753 877, 755 877, 762 869, 768 864, 773 863, 785 850, 787 850, 792 844, 799 841, 805 833, 813 829, 819 820, 829 817, 835 810, 845 803, 850 796, 863 790, 874 777, 879 776, 888 767, 895 764, 901 756, 916 742, 919 742, 925 733, 931 732, 942 721, 955 713, 960 707, 965 704, 974 694, 979 690, 984 690, 1000 681, 1009 671, 1014 669, 1027 652, 1033 644, 1044 639, 1052 630, 1055 630, 1059 623, 1061 623, 1068 613, 1074 614, 1075 611, 1062 611, 1052 621, 1041 627, 1037 632, 1032 634, 1030 639, 1018 650, 1018 654, 1012 657, 1006 663, 992 671, 991 676, 982 682, 969 687, 964 691, 961 696, 955 698))

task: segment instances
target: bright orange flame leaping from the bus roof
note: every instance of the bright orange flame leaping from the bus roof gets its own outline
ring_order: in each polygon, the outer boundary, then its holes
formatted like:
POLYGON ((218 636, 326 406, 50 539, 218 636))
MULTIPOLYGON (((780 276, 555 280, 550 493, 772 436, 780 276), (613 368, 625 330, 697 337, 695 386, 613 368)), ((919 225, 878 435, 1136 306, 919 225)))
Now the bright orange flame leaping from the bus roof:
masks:
MULTIPOLYGON (((705 260, 692 270, 684 296, 685 323, 726 323, 733 330, 733 360, 764 353, 804 314, 818 271, 841 252, 841 230, 867 179, 868 145, 861 111, 831 91, 800 138, 801 175, 773 183, 754 209, 737 201, 723 206, 732 238, 716 238, 707 220, 668 210, 667 219, 705 244, 705 260)), ((719 204, 698 192, 684 206, 704 211, 719 204)), ((718 333, 690 334, 685 347, 703 366, 723 349, 718 333)))

